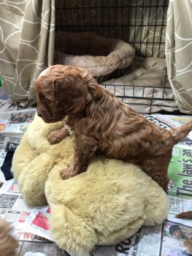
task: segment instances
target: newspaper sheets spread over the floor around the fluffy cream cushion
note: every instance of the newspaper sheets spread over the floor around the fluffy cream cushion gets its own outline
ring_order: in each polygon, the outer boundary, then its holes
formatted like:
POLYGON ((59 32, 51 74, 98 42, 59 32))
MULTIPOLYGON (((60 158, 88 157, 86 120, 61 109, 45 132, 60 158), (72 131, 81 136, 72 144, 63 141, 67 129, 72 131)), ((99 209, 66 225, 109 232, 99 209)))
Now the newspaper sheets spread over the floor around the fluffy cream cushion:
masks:
MULTIPOLYGON (((2 94, 3 95, 3 94, 2 94)), ((1 99, 1 90, 0 90, 1 99)), ((1 99, 3 100, 3 99, 1 99)), ((6 99, 0 103, 0 164, 9 149, 16 148, 23 133, 33 121, 36 110, 28 108, 20 110, 10 105, 6 99), (1 108, 2 107, 2 108, 1 108), (29 119, 31 119, 29 121, 29 119)), ((161 127, 177 127, 189 121, 191 117, 145 115, 150 121, 161 127)), ((183 255, 182 244, 192 235, 191 221, 175 219, 174 214, 192 210, 192 134, 182 143, 174 146, 172 161, 169 165, 169 217, 162 225, 141 227, 137 233, 114 246, 96 246, 91 256, 167 256, 183 255), (176 225, 176 226, 175 226, 176 225), (174 227, 180 230, 180 236, 172 233, 174 227)), ((12 222, 15 228, 15 237, 18 238, 20 248, 18 256, 32 255, 63 255, 78 256, 72 252, 58 249, 50 235, 49 206, 28 208, 18 191, 17 181, 5 181, 0 171, 0 181, 3 183, 0 190, 0 217, 12 222), (48 252, 48 254, 47 254, 48 252)), ((88 256, 88 255, 85 255, 88 256)))

